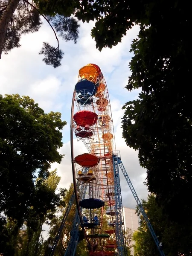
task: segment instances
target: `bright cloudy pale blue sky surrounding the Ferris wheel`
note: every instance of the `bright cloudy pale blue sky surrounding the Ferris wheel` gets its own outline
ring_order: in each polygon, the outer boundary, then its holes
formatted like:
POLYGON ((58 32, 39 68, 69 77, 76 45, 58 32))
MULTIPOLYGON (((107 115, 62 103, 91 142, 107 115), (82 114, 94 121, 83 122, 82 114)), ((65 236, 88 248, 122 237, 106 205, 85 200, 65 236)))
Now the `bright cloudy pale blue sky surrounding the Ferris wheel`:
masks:
MULTIPOLYGON (((116 149, 121 152, 121 160, 131 179, 134 189, 140 199, 146 199, 148 191, 143 184, 146 170, 140 167, 138 152, 129 148, 122 138, 121 118, 122 106, 138 98, 140 90, 131 93, 125 89, 128 83, 129 62, 133 56, 130 53, 131 41, 137 37, 139 28, 134 26, 122 42, 112 49, 105 48, 101 52, 96 49, 96 43, 90 32, 94 23, 80 23, 79 39, 64 42, 60 38, 60 48, 65 52, 61 67, 54 69, 42 61, 38 55, 43 41, 57 45, 51 28, 45 23, 38 32, 22 37, 21 47, 13 49, 8 55, 2 55, 0 60, 0 93, 29 96, 44 109, 61 112, 61 119, 67 121, 64 127, 63 147, 59 152, 65 154, 60 165, 52 164, 52 169, 58 169, 61 176, 59 187, 68 188, 72 183, 70 157, 70 109, 73 90, 78 78, 78 71, 88 63, 97 64, 107 82, 113 125, 115 130, 116 149)), ((74 142, 74 155, 83 154, 86 149, 81 142, 74 142)), ((121 172, 121 171, 120 171, 121 172)), ((120 173, 123 207, 135 208, 136 201, 120 173)))

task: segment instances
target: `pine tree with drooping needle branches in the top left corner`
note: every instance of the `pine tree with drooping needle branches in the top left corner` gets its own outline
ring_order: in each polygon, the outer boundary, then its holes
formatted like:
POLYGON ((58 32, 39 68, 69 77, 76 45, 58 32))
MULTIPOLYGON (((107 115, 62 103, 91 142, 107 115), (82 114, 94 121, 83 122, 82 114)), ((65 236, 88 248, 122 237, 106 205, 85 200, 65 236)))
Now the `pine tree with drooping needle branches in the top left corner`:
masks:
POLYGON ((44 42, 39 54, 44 55, 47 65, 58 67, 64 52, 59 49, 56 32, 65 40, 78 38, 79 25, 71 15, 75 12, 79 1, 45 1, 45 0, 2 0, 0 3, 0 58, 15 47, 20 47, 19 41, 23 34, 38 31, 41 19, 46 20, 55 34, 57 47, 44 42), (55 28, 55 29, 54 29, 55 28))

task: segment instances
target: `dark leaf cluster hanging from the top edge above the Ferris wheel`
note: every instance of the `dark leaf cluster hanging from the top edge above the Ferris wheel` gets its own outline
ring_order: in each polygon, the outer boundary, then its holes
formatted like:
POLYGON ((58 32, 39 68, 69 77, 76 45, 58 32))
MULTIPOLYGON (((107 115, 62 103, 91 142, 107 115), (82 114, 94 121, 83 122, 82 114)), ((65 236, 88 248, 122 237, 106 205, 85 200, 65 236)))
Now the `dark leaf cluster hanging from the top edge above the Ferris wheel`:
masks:
POLYGON ((145 18, 147 1, 118 1, 118 0, 85 0, 76 12, 78 19, 85 21, 96 20, 92 29, 92 37, 96 47, 113 47, 134 23, 140 23, 145 18))

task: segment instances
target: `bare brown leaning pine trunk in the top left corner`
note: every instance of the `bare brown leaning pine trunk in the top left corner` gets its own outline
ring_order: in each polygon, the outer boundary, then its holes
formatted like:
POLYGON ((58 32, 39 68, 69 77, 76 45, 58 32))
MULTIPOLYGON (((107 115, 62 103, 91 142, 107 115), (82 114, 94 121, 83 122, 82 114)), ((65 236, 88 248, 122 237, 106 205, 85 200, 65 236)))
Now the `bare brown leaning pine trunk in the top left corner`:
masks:
POLYGON ((11 21, 11 18, 15 12, 15 9, 17 8, 19 1, 20 0, 10 0, 5 12, 3 12, 3 15, 0 19, 0 58, 5 42, 6 29, 9 25, 9 22, 11 21))

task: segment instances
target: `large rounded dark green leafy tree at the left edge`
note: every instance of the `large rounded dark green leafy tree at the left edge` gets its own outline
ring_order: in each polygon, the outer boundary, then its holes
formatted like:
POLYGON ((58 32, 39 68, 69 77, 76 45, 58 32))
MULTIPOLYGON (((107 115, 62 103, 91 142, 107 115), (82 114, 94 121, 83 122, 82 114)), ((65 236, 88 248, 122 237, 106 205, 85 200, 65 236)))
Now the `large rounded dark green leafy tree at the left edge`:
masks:
POLYGON ((62 160, 64 125, 61 113, 44 113, 28 96, 0 95, 0 213, 12 222, 12 237, 27 220, 34 198, 42 195, 44 185, 35 186, 36 175, 47 179, 51 163, 62 160))

